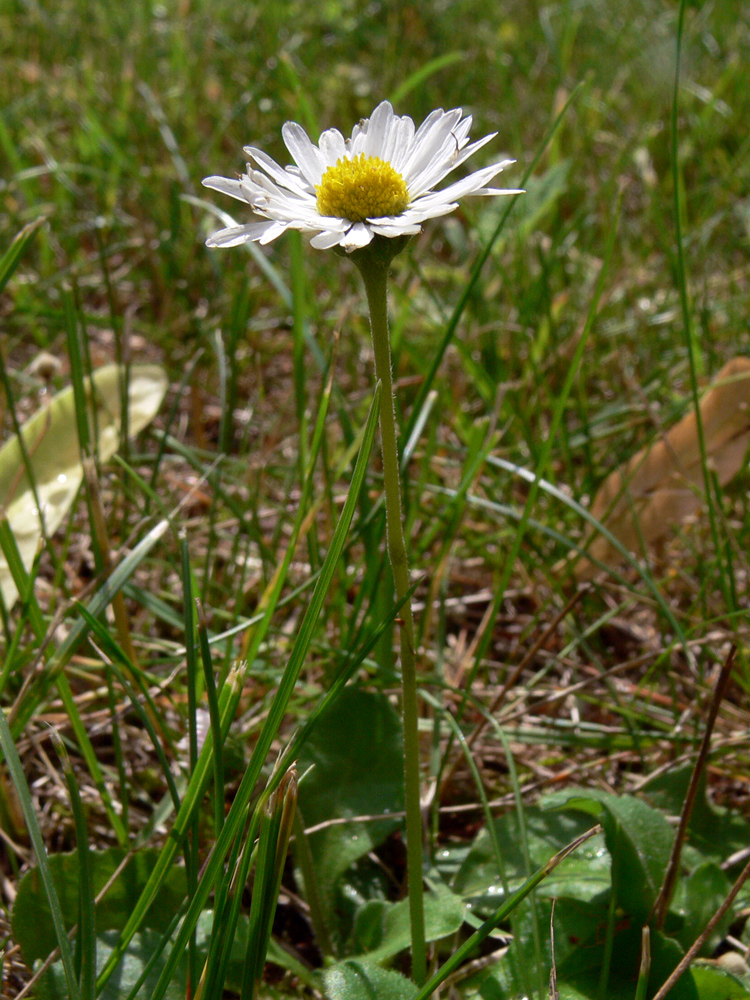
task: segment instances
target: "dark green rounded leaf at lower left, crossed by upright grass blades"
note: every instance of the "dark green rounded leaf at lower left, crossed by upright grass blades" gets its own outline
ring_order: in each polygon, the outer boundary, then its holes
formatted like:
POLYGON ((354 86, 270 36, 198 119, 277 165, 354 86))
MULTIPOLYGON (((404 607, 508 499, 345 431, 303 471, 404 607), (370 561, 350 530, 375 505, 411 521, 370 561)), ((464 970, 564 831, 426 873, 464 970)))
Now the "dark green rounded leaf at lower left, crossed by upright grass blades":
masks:
MULTIPOLYGON (((119 847, 91 853, 95 894, 101 891, 125 854, 126 851, 119 847)), ((98 931, 119 930, 125 926, 158 854, 156 850, 138 852, 117 876, 116 882, 96 907, 98 931)), ((78 920, 80 893, 78 854, 52 855, 49 864, 65 926, 72 927, 78 920)), ((146 925, 160 927, 165 924, 185 898, 186 891, 184 869, 173 868, 149 910, 146 925)), ((46 958, 57 945, 47 894, 37 868, 32 868, 21 879, 13 904, 11 926, 13 937, 21 946, 24 961, 30 967, 37 959, 46 958)))

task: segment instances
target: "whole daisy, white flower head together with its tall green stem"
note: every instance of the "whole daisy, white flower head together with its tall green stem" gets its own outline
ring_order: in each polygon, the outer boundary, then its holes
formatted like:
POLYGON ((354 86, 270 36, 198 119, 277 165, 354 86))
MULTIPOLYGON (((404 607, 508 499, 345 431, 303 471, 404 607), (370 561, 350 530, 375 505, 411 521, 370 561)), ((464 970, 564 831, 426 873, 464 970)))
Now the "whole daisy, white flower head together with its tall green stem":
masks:
POLYGON ((406 800, 406 868, 411 920, 412 976, 427 975, 422 868, 420 799, 419 701, 417 647, 411 587, 401 513, 398 435, 393 407, 390 336, 388 332, 388 268, 391 260, 418 233, 426 219, 447 215, 469 194, 520 194, 487 185, 512 160, 475 170, 462 180, 435 190, 448 174, 489 142, 492 135, 469 144, 471 117, 460 108, 433 111, 419 128, 411 118, 393 113, 383 101, 355 125, 351 138, 336 129, 314 145, 305 130, 287 122, 284 142, 295 160, 280 167, 260 149, 245 152, 256 166, 238 180, 207 177, 206 187, 250 205, 263 222, 221 229, 207 240, 210 247, 258 241, 270 243, 287 229, 311 233, 321 250, 346 252, 362 274, 370 309, 375 376, 380 392, 380 446, 387 519, 388 555, 397 600, 401 604, 401 711, 404 723, 404 792, 406 800))

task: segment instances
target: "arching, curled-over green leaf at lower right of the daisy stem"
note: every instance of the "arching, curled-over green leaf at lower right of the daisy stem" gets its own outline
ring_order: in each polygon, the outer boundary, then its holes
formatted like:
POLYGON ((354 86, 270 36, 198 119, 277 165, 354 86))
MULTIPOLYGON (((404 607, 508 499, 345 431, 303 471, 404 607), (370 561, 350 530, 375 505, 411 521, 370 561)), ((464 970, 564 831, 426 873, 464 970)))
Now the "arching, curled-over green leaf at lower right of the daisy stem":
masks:
POLYGON ((573 809, 596 817, 604 827, 607 850, 616 869, 617 902, 639 923, 648 920, 661 888, 674 830, 656 809, 631 795, 598 789, 559 792, 546 808, 573 809))

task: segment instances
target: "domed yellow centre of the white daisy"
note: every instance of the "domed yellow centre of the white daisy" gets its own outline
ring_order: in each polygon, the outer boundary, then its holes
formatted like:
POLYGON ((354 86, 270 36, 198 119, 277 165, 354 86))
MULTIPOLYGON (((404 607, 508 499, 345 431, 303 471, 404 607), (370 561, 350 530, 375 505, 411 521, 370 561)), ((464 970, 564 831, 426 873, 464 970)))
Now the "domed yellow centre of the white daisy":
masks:
POLYGON ((352 222, 400 215, 409 204, 401 174, 385 160, 364 153, 338 160, 326 170, 315 190, 321 215, 352 222))

